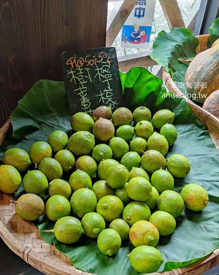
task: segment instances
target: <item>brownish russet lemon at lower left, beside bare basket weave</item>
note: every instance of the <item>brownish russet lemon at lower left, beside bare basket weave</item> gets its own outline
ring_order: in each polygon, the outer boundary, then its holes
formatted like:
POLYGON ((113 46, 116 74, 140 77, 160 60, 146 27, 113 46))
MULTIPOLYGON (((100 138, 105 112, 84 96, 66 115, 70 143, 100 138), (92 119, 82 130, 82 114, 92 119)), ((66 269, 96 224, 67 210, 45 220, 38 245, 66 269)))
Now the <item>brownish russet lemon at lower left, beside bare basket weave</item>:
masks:
POLYGON ((23 194, 14 203, 17 215, 27 221, 35 221, 45 213, 43 200, 35 194, 23 194))

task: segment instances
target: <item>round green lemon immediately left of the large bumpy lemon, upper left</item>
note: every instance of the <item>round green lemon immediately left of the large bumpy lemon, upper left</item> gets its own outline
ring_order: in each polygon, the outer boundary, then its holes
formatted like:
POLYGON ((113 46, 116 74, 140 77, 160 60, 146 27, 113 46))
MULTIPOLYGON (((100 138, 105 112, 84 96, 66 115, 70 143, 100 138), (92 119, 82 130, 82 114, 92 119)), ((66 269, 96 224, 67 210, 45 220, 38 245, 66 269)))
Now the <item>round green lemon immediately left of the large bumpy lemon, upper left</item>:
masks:
POLYGON ((52 151, 58 152, 66 148, 68 143, 68 135, 61 130, 56 130, 50 134, 47 142, 51 146, 52 151))

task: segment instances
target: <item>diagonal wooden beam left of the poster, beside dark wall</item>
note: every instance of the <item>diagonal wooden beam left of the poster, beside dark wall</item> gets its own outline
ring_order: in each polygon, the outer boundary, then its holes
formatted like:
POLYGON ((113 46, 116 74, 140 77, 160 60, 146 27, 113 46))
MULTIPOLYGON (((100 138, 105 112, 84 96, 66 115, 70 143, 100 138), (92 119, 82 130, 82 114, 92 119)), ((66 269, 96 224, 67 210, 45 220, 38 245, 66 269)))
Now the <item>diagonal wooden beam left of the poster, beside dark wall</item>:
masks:
POLYGON ((106 47, 111 47, 113 41, 124 25, 137 0, 118 1, 109 15, 106 32, 106 47))

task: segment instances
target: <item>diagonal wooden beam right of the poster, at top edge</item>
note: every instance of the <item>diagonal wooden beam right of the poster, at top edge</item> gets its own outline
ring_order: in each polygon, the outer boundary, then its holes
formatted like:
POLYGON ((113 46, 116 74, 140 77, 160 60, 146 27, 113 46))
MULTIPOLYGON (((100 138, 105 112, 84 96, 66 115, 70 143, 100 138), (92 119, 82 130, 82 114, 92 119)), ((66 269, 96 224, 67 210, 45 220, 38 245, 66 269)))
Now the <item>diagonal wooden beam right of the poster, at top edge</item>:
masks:
POLYGON ((185 28, 177 0, 159 0, 169 28, 185 28))

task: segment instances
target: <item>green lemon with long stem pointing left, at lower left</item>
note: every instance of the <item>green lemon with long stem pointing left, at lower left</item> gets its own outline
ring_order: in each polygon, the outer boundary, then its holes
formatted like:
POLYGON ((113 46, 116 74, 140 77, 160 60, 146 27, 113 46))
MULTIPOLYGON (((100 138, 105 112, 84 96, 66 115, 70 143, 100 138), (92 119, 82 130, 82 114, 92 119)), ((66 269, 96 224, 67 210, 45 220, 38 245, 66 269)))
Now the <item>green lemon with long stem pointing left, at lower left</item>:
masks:
POLYGON ((54 233, 56 239, 63 244, 73 244, 84 234, 81 222, 75 217, 62 217, 56 221, 54 229, 46 230, 46 233, 54 233))

